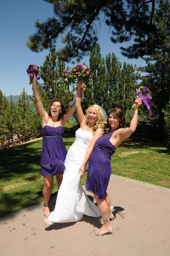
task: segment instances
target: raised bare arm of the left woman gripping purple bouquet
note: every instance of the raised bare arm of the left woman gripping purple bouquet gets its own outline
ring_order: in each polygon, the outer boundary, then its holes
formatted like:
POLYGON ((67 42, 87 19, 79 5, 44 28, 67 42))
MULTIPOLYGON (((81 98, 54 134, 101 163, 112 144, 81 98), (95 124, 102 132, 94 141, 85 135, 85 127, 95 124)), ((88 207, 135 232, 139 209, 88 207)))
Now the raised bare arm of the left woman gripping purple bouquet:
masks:
POLYGON ((32 79, 32 89, 33 89, 34 97, 36 99, 37 111, 38 111, 40 117, 42 118, 42 122, 43 122, 43 120, 46 122, 48 120, 48 113, 44 110, 43 105, 42 105, 42 100, 40 99, 35 73, 34 73, 34 77, 32 79))

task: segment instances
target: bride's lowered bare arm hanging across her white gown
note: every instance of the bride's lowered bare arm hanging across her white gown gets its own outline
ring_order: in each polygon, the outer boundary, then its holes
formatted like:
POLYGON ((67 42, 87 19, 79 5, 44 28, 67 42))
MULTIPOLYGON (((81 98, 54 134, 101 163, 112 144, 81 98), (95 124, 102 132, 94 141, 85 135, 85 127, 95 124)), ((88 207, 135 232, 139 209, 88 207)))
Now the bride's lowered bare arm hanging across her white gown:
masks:
POLYGON ((84 174, 86 164, 88 162, 88 159, 94 150, 94 145, 97 139, 103 135, 103 129, 98 128, 94 134, 94 138, 91 140, 90 144, 88 145, 88 149, 86 151, 86 155, 84 157, 84 161, 82 162, 82 166, 79 168, 79 174, 80 174, 80 179, 82 178, 82 175, 84 174))

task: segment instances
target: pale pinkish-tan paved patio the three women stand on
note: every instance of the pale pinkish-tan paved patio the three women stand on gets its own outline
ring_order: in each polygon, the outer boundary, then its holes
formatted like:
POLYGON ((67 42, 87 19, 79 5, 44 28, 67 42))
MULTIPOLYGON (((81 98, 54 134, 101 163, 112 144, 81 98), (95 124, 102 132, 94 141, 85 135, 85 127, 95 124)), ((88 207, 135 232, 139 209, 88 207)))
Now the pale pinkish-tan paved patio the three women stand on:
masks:
POLYGON ((170 190, 111 175, 108 192, 112 235, 94 236, 100 223, 87 216, 48 226, 41 203, 0 219, 0 256, 170 256, 170 190))

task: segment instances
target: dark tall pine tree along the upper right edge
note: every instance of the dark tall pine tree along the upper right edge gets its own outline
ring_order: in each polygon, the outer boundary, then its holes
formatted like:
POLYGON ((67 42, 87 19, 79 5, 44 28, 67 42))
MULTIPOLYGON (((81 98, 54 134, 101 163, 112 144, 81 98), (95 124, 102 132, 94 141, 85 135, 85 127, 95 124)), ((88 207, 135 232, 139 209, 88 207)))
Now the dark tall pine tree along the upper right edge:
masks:
POLYGON ((170 95, 170 4, 169 1, 160 1, 159 9, 153 17, 156 32, 150 34, 150 42, 155 48, 154 54, 150 54, 146 60, 146 66, 142 71, 147 72, 143 76, 143 84, 150 88, 153 101, 156 104, 153 109, 153 117, 156 117, 158 131, 163 135, 165 122, 163 109, 169 101, 170 95))

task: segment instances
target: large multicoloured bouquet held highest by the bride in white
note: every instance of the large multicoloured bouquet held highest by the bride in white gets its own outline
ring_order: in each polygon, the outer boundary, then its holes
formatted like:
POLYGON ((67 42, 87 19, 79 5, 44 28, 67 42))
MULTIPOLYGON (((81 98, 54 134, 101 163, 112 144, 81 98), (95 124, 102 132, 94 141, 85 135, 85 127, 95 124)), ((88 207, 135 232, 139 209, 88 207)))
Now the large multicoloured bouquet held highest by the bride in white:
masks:
POLYGON ((86 65, 77 64, 70 71, 64 71, 62 74, 64 82, 72 82, 75 83, 77 80, 81 80, 83 82, 87 82, 91 77, 92 72, 86 65))

